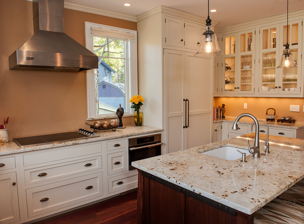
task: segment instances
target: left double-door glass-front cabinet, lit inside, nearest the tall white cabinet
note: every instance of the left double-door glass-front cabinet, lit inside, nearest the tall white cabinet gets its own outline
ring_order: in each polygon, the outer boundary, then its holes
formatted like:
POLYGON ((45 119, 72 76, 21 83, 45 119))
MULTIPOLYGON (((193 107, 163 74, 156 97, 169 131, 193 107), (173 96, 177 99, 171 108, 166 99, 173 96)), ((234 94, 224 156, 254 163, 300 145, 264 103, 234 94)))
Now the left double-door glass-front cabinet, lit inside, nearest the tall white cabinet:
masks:
POLYGON ((255 31, 223 36, 223 95, 254 93, 255 31))

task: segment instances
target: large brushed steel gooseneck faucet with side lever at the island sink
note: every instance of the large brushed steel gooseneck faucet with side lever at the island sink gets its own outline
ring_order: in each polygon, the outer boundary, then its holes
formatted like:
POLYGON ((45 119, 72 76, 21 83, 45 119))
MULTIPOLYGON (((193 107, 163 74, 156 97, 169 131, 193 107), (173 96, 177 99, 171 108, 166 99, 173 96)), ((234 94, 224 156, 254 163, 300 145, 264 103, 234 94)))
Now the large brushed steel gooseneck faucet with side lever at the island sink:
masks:
POLYGON ((247 140, 249 152, 252 154, 252 157, 254 158, 260 158, 260 139, 259 139, 259 121, 253 116, 252 114, 240 114, 236 120, 234 121, 232 125, 232 130, 238 130, 239 127, 237 126, 239 124, 239 120, 243 117, 249 117, 252 118, 252 120, 255 123, 255 138, 254 138, 254 146, 250 147, 249 140, 247 140))

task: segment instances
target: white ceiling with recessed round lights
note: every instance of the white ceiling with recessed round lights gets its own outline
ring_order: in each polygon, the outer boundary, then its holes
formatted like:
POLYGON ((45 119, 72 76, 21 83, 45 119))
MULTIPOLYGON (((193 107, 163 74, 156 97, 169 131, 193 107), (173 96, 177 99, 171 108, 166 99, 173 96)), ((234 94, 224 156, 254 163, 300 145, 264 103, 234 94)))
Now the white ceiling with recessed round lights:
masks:
MULTIPOLYGON (((163 5, 198 16, 207 17, 207 0, 67 0, 84 6, 106 9, 113 12, 137 16, 157 6, 163 5), (123 3, 131 3, 124 6, 123 3)), ((219 21, 217 27, 225 27, 255 19, 284 14, 287 0, 210 0, 210 19, 219 21)), ((288 10, 294 12, 304 9, 304 0, 289 0, 288 10)))

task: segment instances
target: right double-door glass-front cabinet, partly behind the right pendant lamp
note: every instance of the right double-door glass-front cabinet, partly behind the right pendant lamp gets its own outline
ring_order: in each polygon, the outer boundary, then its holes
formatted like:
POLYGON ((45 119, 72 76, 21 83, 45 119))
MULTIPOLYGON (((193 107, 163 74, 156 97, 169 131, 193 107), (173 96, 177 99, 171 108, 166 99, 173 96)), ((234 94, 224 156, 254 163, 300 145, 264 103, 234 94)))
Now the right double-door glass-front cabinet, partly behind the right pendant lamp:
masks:
POLYGON ((302 20, 260 28, 259 94, 300 94, 302 20), (297 68, 277 69, 287 42, 297 68), (278 41, 279 40, 279 41, 278 41), (299 59, 299 60, 298 60, 299 59))

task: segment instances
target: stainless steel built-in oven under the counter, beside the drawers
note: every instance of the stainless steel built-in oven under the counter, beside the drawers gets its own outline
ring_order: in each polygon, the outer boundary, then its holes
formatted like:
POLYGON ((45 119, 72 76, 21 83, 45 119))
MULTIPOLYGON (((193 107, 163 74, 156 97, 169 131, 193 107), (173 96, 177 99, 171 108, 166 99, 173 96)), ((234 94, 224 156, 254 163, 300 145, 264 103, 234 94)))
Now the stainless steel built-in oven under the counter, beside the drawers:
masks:
POLYGON ((135 168, 131 162, 161 155, 161 134, 129 139, 129 170, 135 168))

